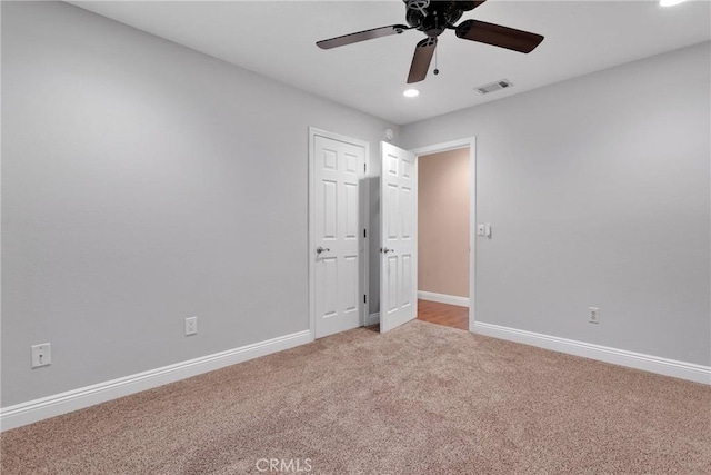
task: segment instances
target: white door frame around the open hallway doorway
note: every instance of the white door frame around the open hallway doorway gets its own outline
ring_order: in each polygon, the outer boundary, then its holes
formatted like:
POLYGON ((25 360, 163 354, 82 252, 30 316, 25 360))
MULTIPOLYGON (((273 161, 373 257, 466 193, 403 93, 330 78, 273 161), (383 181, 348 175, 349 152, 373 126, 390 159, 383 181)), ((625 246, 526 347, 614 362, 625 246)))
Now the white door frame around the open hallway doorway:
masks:
POLYGON ((419 147, 410 151, 419 159, 423 155, 440 154, 467 147, 469 147, 469 331, 473 331, 477 320, 474 314, 477 297, 477 137, 419 147))

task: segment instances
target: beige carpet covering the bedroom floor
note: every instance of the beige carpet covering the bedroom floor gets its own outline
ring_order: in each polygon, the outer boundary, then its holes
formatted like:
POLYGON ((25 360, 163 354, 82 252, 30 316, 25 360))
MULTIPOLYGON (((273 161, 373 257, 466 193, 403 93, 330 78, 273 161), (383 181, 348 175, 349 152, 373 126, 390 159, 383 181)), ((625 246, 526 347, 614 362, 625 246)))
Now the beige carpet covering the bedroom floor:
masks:
POLYGON ((1 448, 3 475, 709 474, 711 388, 415 320, 9 431, 1 448))

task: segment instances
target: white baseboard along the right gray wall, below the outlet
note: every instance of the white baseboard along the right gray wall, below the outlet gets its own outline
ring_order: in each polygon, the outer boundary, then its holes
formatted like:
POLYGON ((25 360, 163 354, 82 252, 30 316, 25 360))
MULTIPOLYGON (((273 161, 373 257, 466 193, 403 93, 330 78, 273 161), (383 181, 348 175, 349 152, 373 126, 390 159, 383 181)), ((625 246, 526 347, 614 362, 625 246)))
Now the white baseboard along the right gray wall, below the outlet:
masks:
POLYGON ((582 356, 614 365, 711 385, 711 366, 678 362, 675 359, 661 358, 659 356, 575 342, 481 321, 474 323, 473 331, 479 335, 523 343, 539 348, 552 349, 569 355, 582 356))

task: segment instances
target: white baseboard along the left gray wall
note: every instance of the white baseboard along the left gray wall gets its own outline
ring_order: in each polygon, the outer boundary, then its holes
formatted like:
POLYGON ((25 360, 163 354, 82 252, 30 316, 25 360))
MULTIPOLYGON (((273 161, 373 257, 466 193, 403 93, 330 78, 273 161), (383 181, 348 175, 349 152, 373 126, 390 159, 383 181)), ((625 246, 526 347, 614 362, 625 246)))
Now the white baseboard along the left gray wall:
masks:
POLYGON ((162 368, 99 383, 0 409, 0 431, 32 424, 49 417, 71 413, 118 397, 140 393, 226 366, 247 362, 272 353, 313 342, 309 330, 286 335, 240 348, 228 349, 162 368))

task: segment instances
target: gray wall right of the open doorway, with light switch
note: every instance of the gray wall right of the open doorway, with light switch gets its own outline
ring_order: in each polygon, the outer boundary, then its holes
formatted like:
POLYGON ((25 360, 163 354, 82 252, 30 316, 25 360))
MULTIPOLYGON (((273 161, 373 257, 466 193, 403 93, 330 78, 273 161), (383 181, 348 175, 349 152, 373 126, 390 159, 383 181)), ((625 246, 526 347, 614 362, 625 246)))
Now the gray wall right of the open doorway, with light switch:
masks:
POLYGON ((703 43, 403 127, 477 136, 477 320, 711 364, 710 71, 703 43))

